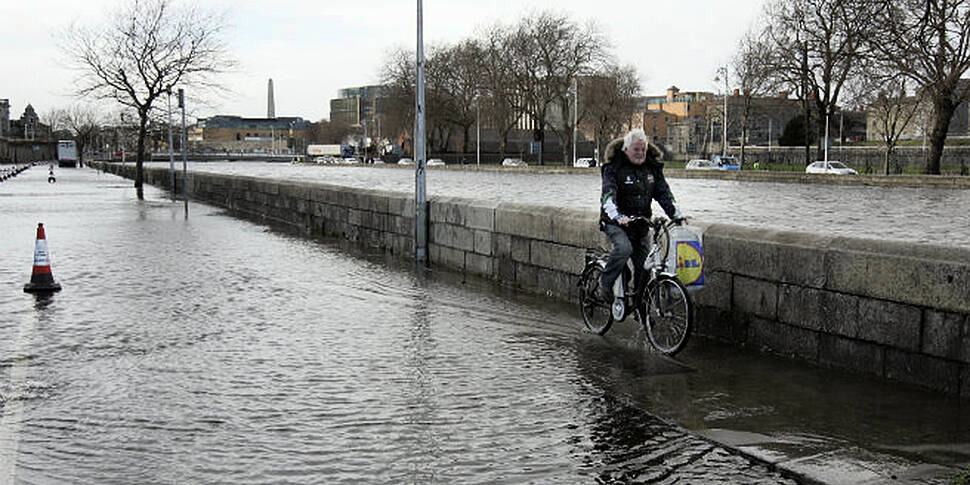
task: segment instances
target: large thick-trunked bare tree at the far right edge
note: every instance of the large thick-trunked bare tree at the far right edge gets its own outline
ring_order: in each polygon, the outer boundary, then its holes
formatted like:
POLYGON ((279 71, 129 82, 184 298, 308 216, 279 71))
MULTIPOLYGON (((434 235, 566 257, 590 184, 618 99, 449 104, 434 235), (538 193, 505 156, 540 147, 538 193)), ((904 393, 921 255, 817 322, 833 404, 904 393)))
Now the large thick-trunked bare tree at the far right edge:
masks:
POLYGON ((970 0, 884 1, 883 32, 872 48, 880 60, 915 81, 933 106, 924 172, 940 173, 943 145, 957 106, 970 99, 970 0))

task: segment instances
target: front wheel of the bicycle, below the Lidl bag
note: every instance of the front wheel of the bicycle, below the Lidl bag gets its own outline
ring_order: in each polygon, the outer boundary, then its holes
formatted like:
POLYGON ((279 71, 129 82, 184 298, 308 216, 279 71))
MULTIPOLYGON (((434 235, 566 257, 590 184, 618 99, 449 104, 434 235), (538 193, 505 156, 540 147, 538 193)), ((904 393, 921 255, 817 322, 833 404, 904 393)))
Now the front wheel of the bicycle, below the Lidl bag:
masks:
POLYGON ((677 278, 660 275, 647 287, 644 308, 637 312, 650 344, 674 355, 683 350, 694 327, 694 302, 677 278))

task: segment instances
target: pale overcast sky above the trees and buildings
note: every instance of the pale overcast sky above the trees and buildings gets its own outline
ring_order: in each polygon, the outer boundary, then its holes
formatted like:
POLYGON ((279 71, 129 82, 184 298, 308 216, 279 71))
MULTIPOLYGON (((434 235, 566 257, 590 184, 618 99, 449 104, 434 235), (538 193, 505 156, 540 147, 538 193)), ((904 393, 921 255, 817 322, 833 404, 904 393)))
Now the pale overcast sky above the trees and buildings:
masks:
MULTIPOLYGON (((179 0, 176 0, 179 1, 179 0)), ((329 100, 345 87, 375 84, 385 52, 414 49, 416 1, 196 0, 226 12, 227 41, 239 63, 221 81, 232 92, 198 116, 266 116, 266 84, 275 86, 277 116, 329 118, 329 100)), ((636 66, 644 94, 668 86, 714 91, 719 65, 760 15, 764 0, 424 0, 425 46, 454 43, 495 22, 511 25, 531 11, 553 10, 592 20, 623 64, 636 66)), ((60 67, 55 33, 71 22, 103 22, 117 0, 0 1, 0 98, 11 118, 27 103, 41 117, 77 103, 74 73, 60 67)), ((106 107, 112 112, 114 107, 106 107)))

